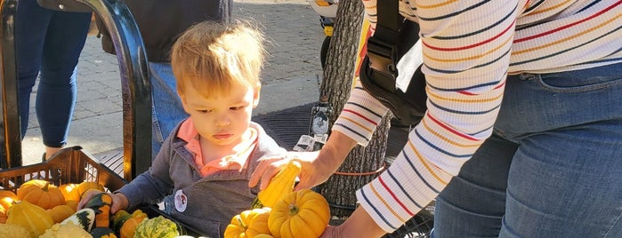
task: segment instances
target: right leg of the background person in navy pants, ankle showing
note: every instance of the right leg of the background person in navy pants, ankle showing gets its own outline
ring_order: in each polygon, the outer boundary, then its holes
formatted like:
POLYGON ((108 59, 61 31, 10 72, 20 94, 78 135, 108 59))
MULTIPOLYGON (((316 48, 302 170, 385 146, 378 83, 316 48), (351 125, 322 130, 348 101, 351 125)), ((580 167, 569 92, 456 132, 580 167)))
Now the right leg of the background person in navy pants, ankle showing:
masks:
POLYGON ((77 97, 77 62, 90 22, 91 13, 85 12, 54 12, 50 21, 36 97, 47 157, 67 143, 77 97))

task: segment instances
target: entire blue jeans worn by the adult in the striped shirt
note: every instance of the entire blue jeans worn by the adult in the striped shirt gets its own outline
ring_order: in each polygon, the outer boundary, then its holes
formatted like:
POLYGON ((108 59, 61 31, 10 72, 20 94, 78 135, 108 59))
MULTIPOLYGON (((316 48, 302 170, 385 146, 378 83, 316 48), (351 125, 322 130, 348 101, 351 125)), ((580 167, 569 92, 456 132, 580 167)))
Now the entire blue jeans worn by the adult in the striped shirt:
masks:
POLYGON ((507 79, 432 237, 622 237, 622 64, 507 79))

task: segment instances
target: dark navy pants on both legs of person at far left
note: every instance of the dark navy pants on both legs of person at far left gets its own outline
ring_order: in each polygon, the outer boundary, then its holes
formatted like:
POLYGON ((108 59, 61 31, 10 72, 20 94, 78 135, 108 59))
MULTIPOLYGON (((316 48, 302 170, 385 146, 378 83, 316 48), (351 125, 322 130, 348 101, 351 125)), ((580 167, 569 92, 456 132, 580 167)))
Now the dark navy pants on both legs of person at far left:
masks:
POLYGON ((35 0, 20 0, 15 14, 20 129, 28 129, 30 93, 36 77, 36 117, 44 145, 67 143, 77 97, 77 61, 85 46, 91 13, 47 10, 35 0))

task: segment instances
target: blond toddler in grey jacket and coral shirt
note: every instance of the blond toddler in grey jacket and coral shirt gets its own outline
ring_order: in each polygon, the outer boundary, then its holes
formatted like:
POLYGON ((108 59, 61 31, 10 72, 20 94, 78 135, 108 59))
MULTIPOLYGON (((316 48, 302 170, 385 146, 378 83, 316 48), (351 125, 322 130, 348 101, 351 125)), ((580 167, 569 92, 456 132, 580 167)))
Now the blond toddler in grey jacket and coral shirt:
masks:
MULTIPOLYGON (((168 136, 149 171, 111 194, 112 213, 173 196, 172 218, 222 237, 230 219, 249 209, 259 192, 247 186, 254 168, 287 153, 251 121, 261 90, 263 39, 242 21, 204 21, 179 37, 171 64, 190 116, 168 136)), ((85 194, 78 208, 95 193, 85 194)))

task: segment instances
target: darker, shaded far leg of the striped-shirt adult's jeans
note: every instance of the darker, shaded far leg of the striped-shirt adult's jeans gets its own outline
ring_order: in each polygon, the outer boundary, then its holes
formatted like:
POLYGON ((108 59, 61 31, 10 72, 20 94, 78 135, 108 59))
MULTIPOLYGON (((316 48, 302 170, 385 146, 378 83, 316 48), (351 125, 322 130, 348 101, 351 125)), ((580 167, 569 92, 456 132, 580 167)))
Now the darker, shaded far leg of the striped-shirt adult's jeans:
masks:
POLYGON ((517 144, 493 135, 436 199, 432 237, 497 237, 517 144))

